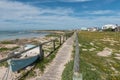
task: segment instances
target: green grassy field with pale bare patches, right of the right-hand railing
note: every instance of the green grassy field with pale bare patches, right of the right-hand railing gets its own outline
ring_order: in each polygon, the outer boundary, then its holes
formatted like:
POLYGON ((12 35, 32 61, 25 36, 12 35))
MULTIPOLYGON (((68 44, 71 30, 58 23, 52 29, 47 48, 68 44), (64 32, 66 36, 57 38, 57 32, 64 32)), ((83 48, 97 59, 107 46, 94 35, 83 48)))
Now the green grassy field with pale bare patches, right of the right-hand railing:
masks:
POLYGON ((115 59, 115 54, 120 54, 120 33, 80 31, 78 36, 83 80, 120 80, 120 60, 115 59), (106 47, 111 55, 97 55, 106 47))

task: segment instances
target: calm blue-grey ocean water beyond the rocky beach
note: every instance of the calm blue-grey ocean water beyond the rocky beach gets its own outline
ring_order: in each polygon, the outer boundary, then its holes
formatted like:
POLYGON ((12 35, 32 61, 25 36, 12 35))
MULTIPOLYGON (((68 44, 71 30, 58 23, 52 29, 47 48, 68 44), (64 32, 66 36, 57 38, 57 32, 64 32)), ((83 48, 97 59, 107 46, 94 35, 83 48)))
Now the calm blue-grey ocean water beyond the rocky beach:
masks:
POLYGON ((32 31, 0 31, 0 41, 21 38, 41 37, 49 33, 37 33, 32 31))

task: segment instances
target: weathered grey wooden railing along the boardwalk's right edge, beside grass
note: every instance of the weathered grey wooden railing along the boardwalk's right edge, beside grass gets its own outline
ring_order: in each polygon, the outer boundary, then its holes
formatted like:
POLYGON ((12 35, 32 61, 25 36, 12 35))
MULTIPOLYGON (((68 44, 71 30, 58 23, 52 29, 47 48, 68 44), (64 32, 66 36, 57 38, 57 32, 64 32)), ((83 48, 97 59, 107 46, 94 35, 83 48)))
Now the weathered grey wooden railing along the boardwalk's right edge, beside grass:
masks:
POLYGON ((77 32, 75 33, 75 57, 73 67, 73 80, 82 80, 82 74, 80 73, 80 53, 79 53, 79 42, 77 32))

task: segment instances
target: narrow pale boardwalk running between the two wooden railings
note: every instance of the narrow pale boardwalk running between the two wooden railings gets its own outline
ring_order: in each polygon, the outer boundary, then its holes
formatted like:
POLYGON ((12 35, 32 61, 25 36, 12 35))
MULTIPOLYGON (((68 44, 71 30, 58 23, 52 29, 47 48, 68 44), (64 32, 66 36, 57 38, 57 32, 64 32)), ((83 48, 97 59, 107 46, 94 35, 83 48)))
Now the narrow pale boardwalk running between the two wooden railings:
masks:
POLYGON ((59 49, 55 59, 37 80, 61 80, 65 64, 70 60, 73 50, 74 35, 70 37, 59 49))

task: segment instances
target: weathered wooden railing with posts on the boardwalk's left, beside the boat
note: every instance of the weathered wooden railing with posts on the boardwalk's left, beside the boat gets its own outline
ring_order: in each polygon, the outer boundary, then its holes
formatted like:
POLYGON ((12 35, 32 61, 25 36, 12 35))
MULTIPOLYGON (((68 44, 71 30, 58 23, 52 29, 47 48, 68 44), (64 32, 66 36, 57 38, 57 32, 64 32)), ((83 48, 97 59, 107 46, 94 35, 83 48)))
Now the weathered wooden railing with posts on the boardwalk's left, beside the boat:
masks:
MULTIPOLYGON (((60 46, 65 40, 67 40, 67 38, 70 37, 72 34, 73 34, 73 33, 66 33, 66 34, 64 34, 64 35, 62 35, 62 36, 59 36, 59 46, 60 46)), ((43 52, 43 47, 42 47, 42 46, 45 45, 45 44, 47 44, 47 43, 49 43, 49 42, 53 42, 53 51, 52 51, 52 52, 54 52, 54 51, 56 50, 56 48, 57 48, 56 45, 55 45, 56 40, 57 40, 57 39, 50 40, 50 41, 47 41, 47 42, 44 42, 44 43, 40 43, 40 44, 38 44, 38 45, 36 45, 36 46, 34 46, 34 47, 32 47, 32 48, 29 48, 29 49, 24 50, 24 51, 21 51, 21 52, 19 52, 19 53, 17 53, 17 54, 8 56, 8 57, 6 57, 6 58, 3 58, 3 59, 0 60, 0 63, 5 62, 5 61, 7 61, 7 60, 9 60, 9 59, 11 59, 11 58, 14 58, 14 57, 16 57, 16 56, 19 56, 19 55, 21 55, 21 54, 23 54, 23 53, 25 53, 25 52, 27 52, 27 51, 30 51, 30 50, 32 50, 32 49, 34 49, 34 48, 36 48, 36 47, 39 47, 40 59, 43 59, 43 58, 44 58, 44 52, 43 52)), ((50 55, 50 54, 49 54, 49 55, 50 55)), ((49 55, 48 55, 48 56, 49 56, 49 55)), ((47 57, 48 57, 48 56, 47 56, 47 57)))

